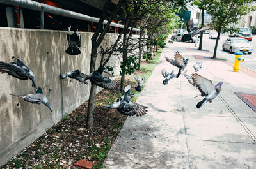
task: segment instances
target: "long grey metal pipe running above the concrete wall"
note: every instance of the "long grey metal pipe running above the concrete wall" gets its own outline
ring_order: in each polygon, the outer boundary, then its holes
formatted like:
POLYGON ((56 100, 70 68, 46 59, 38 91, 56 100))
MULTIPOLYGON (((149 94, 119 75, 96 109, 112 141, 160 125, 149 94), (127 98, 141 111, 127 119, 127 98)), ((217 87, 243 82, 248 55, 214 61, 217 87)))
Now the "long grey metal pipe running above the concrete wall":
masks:
MULTIPOLYGON (((0 3, 4 3, 4 4, 10 4, 13 6, 19 6, 21 8, 28 8, 30 10, 36 10, 36 11, 44 11, 47 13, 52 13, 55 15, 61 15, 63 17, 70 17, 70 18, 76 18, 79 20, 86 20, 89 22, 99 22, 99 18, 95 18, 95 17, 90 17, 88 15, 84 15, 81 13, 77 13, 74 11, 69 11, 69 10, 63 10, 61 8, 57 8, 48 4, 43 4, 43 3, 38 3, 35 1, 31 1, 31 0, 0 0, 0 3)), ((108 21, 104 20, 103 24, 107 24, 108 21)), ((124 26, 121 24, 116 24, 111 22, 110 26, 114 26, 114 27, 120 27, 123 28, 124 26)), ((129 29, 131 29, 131 27, 129 27, 129 29)), ((132 28, 132 31, 140 31, 140 29, 137 28, 132 28)))

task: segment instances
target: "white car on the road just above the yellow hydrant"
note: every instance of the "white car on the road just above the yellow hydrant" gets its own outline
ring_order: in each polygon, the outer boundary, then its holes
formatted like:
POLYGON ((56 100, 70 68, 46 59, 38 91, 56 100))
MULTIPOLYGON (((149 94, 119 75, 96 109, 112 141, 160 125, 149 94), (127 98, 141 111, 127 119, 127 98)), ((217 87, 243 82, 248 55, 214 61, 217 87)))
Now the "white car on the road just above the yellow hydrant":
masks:
POLYGON ((233 52, 246 52, 252 54, 252 45, 244 38, 227 38, 223 42, 222 50, 228 50, 230 53, 233 52))

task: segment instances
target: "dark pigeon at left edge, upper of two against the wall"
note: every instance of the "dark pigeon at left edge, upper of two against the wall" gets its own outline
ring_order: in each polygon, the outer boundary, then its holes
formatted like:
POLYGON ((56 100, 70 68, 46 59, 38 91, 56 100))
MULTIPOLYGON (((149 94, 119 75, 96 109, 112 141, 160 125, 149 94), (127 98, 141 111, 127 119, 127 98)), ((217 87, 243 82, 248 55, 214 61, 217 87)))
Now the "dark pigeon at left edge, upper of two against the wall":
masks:
POLYGON ((0 61, 0 72, 8 73, 15 78, 19 78, 20 80, 32 80, 32 87, 36 87, 35 84, 35 75, 29 68, 22 62, 21 59, 13 57, 17 59, 17 62, 3 62, 0 61))

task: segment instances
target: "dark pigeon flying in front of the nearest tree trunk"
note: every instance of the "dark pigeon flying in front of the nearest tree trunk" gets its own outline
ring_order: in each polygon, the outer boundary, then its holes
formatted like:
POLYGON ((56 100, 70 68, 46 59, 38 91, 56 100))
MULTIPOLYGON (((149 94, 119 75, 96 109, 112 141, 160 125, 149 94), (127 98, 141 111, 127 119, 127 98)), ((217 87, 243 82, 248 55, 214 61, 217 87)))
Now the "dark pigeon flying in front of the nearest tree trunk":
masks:
POLYGON ((88 75, 83 82, 86 80, 90 80, 92 84, 95 84, 99 87, 104 89, 115 89, 117 84, 107 76, 110 75, 109 73, 104 72, 104 66, 100 66, 98 70, 93 71, 88 75))

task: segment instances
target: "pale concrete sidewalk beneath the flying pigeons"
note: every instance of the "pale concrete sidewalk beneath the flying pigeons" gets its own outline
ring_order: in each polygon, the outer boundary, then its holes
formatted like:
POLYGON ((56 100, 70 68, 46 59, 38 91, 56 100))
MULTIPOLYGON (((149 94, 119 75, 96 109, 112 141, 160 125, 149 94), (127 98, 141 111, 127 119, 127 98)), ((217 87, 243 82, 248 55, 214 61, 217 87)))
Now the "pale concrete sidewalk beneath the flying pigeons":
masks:
POLYGON ((198 74, 223 81, 220 96, 200 109, 198 90, 183 75, 163 85, 162 68, 178 68, 165 61, 175 51, 189 58, 211 56, 192 50, 194 44, 173 43, 164 48, 137 102, 147 105, 144 117, 128 117, 104 162, 106 168, 256 168, 256 113, 234 92, 256 94, 256 78, 224 61, 204 59, 198 74), (182 47, 183 46, 183 47, 182 47), (184 47, 186 46, 186 47, 184 47), (199 57, 198 57, 199 56, 199 57))

